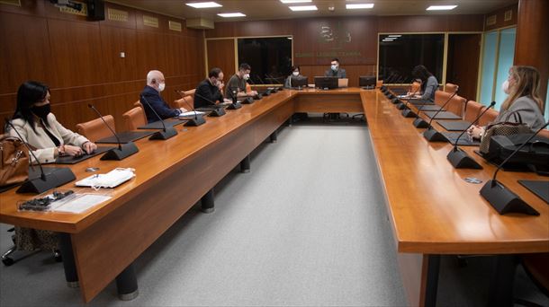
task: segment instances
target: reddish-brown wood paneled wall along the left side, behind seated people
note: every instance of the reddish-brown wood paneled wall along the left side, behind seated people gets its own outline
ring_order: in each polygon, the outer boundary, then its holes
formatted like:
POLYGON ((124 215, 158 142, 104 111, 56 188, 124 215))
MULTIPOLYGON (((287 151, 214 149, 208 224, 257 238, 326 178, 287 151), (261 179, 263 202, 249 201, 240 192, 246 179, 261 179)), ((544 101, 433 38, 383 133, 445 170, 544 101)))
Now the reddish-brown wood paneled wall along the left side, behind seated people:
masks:
POLYGON ((19 85, 36 80, 49 85, 52 110, 65 127, 95 118, 87 108, 93 103, 121 130, 121 114, 138 101, 149 70, 164 73, 168 102, 174 89, 194 88, 204 77, 203 31, 186 29, 183 20, 105 3, 105 21, 91 22, 48 1, 21 2, 0 4, 2 118, 13 115, 19 85), (127 21, 109 20, 109 8, 127 12, 127 21), (156 17, 158 27, 144 25, 143 15, 156 17), (181 22, 182 31, 170 30, 168 21, 181 22))

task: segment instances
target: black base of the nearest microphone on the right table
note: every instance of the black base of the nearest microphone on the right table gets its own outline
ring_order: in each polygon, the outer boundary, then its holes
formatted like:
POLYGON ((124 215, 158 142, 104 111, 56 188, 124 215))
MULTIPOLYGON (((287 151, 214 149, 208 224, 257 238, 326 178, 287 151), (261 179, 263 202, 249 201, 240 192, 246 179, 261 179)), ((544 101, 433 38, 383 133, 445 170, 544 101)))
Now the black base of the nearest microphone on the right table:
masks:
POLYGON ((522 213, 525 215, 539 215, 533 207, 518 197, 498 180, 488 180, 481 189, 481 196, 486 199, 500 215, 508 213, 522 213))

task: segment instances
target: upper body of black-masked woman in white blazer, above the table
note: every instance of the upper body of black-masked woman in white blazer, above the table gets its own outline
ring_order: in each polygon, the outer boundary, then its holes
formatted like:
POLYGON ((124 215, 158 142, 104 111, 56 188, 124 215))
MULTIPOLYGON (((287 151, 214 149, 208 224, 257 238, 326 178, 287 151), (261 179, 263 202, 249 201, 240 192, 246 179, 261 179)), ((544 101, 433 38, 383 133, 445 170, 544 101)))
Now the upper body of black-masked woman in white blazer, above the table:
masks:
MULTIPOLYGON (((14 128, 29 143, 38 162, 55 162, 60 155, 79 156, 92 153, 97 145, 84 136, 63 127, 51 113, 49 87, 36 81, 27 81, 17 90, 17 107, 12 117, 14 128)), ((18 137, 11 127, 10 136, 18 137)), ((31 163, 38 163, 30 155, 31 163)))

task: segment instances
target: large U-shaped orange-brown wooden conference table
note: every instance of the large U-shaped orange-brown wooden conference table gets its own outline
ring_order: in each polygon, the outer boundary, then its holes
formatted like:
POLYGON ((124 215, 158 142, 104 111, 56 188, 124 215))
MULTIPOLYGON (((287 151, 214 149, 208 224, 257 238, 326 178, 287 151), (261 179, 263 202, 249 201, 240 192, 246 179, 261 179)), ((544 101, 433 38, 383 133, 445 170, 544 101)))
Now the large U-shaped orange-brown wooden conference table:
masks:
POLYGON ((483 169, 455 170, 446 161, 451 145, 428 143, 382 92, 359 88, 276 92, 202 126, 176 126, 166 141, 141 139, 139 153, 123 161, 79 162, 71 166, 76 180, 89 167, 133 168, 136 177, 82 214, 18 211, 34 196, 8 190, 0 194, 0 223, 59 232, 67 281, 78 281, 85 303, 112 280, 119 294, 137 293, 133 261, 295 112, 365 113, 410 305, 435 305, 441 255, 501 255, 509 264, 516 254, 549 252, 549 206, 517 182, 536 174, 500 171, 498 179, 540 215, 499 215, 479 195, 482 184, 464 181, 486 182, 493 165, 464 148, 483 169))

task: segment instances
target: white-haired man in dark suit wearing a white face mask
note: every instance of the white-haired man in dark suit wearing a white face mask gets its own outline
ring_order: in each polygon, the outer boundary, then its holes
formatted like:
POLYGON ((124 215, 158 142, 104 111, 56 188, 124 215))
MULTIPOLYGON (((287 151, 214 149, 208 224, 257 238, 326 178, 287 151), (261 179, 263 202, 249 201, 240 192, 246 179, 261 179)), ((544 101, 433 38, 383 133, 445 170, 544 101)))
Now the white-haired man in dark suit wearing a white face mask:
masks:
POLYGON ((165 88, 166 81, 164 79, 164 75, 157 70, 149 71, 147 74, 147 85, 139 96, 139 101, 141 101, 141 104, 143 105, 143 110, 145 110, 145 114, 147 115, 148 123, 158 120, 155 113, 150 110, 150 107, 152 107, 162 119, 175 118, 179 114, 187 111, 184 108, 172 109, 169 107, 166 101, 162 99, 162 96, 160 96, 160 92, 164 91, 165 88), (145 97, 148 103, 143 101, 143 97, 145 97), (148 106, 149 104, 150 107, 148 106))

